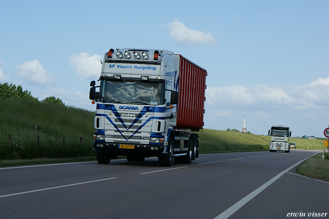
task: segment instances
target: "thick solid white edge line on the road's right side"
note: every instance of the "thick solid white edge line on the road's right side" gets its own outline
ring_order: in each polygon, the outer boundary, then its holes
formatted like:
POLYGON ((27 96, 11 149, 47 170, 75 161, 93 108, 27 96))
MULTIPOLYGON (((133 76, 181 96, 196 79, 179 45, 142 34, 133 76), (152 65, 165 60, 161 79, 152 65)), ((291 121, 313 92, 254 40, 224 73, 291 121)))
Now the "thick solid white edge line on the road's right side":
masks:
MULTIPOLYGON (((314 155, 316 155, 317 153, 315 153, 314 155)), ((312 156, 314 156, 312 155, 312 156)), ((258 195, 259 193, 261 193, 264 189, 266 189, 268 186, 270 186, 273 182, 275 182, 278 178, 280 178, 283 174, 287 173, 289 170, 293 169, 294 167, 298 166, 301 162, 303 162, 304 160, 312 157, 309 156, 301 161, 299 161, 298 163, 296 163, 295 165, 289 167, 288 169, 282 171, 281 173, 279 173, 278 175, 276 175, 275 177, 273 177, 272 179, 268 180, 267 182, 265 182, 265 184, 263 184, 261 187, 259 187, 258 189, 254 190, 253 192, 251 192, 249 195, 247 195, 246 197, 242 198, 239 202, 235 203, 234 205, 232 205, 230 208, 228 208, 227 210, 225 210, 223 213, 221 213, 220 215, 216 216, 214 219, 227 219, 229 216, 231 216, 232 214, 235 213, 235 211, 239 210, 240 208, 242 208, 245 204, 247 204, 252 198, 254 198, 256 195, 258 195)))

